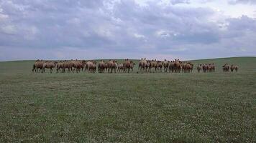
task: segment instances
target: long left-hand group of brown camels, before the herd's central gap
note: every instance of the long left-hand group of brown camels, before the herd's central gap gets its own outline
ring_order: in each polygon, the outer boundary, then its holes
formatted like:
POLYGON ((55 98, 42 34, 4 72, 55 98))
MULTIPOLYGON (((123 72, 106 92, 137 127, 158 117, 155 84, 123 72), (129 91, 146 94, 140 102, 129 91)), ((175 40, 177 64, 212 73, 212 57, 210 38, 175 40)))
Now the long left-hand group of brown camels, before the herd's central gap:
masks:
POLYGON ((88 71, 90 73, 95 73, 98 68, 99 73, 107 72, 115 72, 117 71, 133 71, 134 62, 129 59, 125 59, 124 63, 118 64, 116 60, 109 61, 99 61, 98 65, 96 61, 85 61, 85 60, 65 60, 65 61, 43 61, 37 59, 35 64, 33 64, 32 72, 45 72, 46 69, 50 69, 50 73, 52 73, 53 68, 56 67, 56 72, 65 73, 65 72, 80 72, 80 71, 88 71))

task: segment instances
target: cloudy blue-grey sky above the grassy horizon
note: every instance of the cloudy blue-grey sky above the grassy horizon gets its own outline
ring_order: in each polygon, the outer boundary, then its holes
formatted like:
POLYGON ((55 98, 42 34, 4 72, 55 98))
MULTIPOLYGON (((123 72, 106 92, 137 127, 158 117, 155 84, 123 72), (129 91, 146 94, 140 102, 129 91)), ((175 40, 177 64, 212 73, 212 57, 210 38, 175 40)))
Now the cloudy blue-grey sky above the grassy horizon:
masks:
POLYGON ((255 0, 0 0, 0 61, 256 56, 255 0))

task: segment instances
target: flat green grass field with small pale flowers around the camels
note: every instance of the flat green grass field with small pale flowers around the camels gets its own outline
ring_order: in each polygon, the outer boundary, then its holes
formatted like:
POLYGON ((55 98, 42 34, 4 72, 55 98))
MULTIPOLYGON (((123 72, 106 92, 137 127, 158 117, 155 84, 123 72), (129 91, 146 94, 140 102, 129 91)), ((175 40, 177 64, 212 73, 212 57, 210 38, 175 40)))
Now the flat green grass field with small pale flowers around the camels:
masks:
POLYGON ((186 74, 31 74, 33 62, 0 62, 0 142, 256 142, 256 57, 186 74))

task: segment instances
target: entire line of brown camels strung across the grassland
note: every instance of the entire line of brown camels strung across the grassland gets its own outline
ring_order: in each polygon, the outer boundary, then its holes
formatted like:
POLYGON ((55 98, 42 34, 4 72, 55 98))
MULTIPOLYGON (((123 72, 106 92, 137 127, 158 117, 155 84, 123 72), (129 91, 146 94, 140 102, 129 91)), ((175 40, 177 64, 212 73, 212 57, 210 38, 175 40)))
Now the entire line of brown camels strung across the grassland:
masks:
MULTIPOLYGON (((37 59, 35 64, 33 64, 32 72, 41 72, 44 73, 45 69, 50 69, 50 73, 52 73, 53 69, 56 68, 57 73, 65 73, 65 72, 89 72, 95 73, 96 69, 98 69, 99 73, 116 73, 116 72, 131 72, 134 70, 134 66, 136 64, 129 59, 125 59, 122 63, 118 63, 116 60, 101 60, 98 63, 96 61, 86 61, 86 60, 64 60, 64 61, 43 61, 37 59)), ((223 71, 237 71, 238 66, 224 64, 223 71)), ((214 72, 215 65, 211 64, 198 64, 196 67, 197 71, 203 72, 214 72)), ((146 58, 141 59, 138 65, 137 72, 192 72, 193 64, 189 61, 180 61, 179 59, 175 59, 174 61, 158 61, 147 60, 146 58)))

